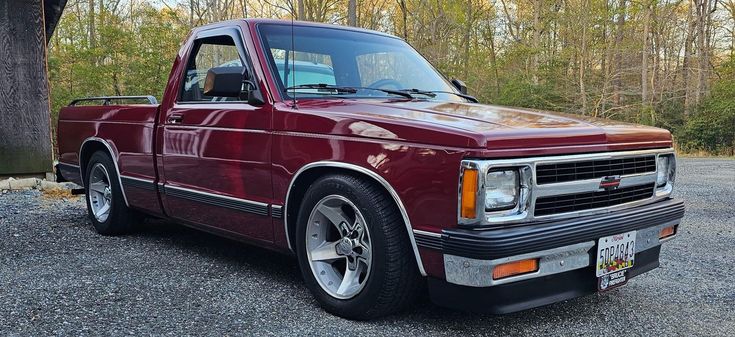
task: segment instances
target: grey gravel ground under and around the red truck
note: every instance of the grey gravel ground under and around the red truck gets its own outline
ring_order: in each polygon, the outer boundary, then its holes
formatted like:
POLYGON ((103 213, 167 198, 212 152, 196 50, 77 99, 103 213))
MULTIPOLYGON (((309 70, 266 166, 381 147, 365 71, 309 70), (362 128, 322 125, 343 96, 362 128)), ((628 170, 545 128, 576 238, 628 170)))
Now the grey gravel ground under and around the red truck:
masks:
POLYGON ((687 202, 661 268, 628 285, 489 316, 422 302, 371 322, 323 312, 295 260, 153 223, 97 235, 81 200, 0 195, 0 335, 730 335, 735 160, 682 158, 687 202))

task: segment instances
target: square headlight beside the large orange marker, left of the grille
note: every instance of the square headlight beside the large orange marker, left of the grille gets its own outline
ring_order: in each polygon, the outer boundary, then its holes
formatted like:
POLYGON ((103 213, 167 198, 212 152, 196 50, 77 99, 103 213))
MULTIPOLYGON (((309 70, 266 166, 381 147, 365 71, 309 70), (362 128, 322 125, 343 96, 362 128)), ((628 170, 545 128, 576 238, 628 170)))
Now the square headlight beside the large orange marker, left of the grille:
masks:
POLYGON ((485 210, 501 211, 516 207, 519 190, 518 170, 496 170, 485 179, 485 210))

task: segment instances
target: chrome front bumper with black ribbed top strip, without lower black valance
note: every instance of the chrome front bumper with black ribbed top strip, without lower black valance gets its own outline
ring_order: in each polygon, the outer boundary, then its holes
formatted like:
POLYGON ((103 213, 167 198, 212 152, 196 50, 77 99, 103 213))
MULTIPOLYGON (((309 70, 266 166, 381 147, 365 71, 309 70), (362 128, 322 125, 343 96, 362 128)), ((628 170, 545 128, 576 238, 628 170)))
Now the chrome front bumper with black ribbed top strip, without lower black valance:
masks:
POLYGON ((446 282, 492 287, 592 266, 597 240, 609 235, 635 230, 636 254, 645 252, 672 239, 660 240, 659 233, 665 227, 678 226, 683 216, 684 203, 667 199, 573 219, 487 230, 414 231, 414 235, 419 247, 441 251, 446 282), (539 259, 538 271, 492 278, 495 266, 532 258, 539 259))

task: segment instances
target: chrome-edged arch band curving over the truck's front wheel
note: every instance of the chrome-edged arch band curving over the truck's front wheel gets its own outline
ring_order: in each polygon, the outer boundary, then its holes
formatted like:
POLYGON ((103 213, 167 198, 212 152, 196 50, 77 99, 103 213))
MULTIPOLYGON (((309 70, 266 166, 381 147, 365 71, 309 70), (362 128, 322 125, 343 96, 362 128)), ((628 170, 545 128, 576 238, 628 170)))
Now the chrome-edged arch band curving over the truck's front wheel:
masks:
POLYGON ((416 263, 418 266, 419 271, 421 272, 421 275, 426 276, 426 271, 424 270, 423 263, 421 262, 421 257, 418 254, 418 248, 416 246, 416 240, 413 238, 413 231, 411 229, 411 223, 408 219, 408 214, 406 214, 406 211, 398 197, 396 195, 395 191, 389 190, 390 185, 388 185, 388 182, 386 182, 382 177, 377 175, 377 173, 374 173, 372 171, 367 171, 366 169, 362 167, 357 167, 351 164, 344 164, 344 163, 329 163, 325 165, 318 165, 320 163, 313 163, 309 165, 315 165, 313 167, 308 167, 307 165, 306 170, 303 172, 298 172, 295 180, 291 183, 289 186, 289 192, 288 197, 286 200, 286 209, 285 211, 285 221, 286 221, 286 236, 289 244, 289 248, 295 249, 293 244, 291 243, 291 240, 296 237, 296 221, 299 213, 299 209, 301 208, 301 203, 303 202, 304 195, 306 195, 307 190, 309 189, 309 186, 311 186, 317 179, 331 174, 348 174, 355 177, 359 177, 362 179, 365 179, 367 181, 370 181, 377 186, 379 186, 383 192, 386 193, 387 196, 390 196, 393 200, 394 205, 399 209, 399 212, 401 212, 401 215, 403 216, 404 225, 406 227, 406 235, 408 236, 409 241, 411 242, 411 246, 414 250, 414 255, 416 258, 416 263), (354 168, 353 168, 354 166, 354 168), (365 171, 365 172, 363 172, 365 171))

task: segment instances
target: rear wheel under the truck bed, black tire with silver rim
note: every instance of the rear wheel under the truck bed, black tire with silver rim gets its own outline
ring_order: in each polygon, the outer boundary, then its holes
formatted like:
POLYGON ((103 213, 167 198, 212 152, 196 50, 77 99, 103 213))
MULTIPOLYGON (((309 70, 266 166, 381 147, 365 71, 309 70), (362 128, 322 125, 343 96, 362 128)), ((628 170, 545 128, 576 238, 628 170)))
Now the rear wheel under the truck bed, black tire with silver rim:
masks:
POLYGON ((140 217, 125 204, 112 158, 102 151, 92 154, 84 181, 87 211, 97 233, 130 232, 140 217))

